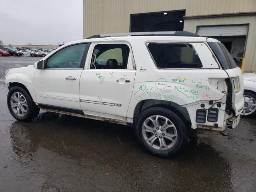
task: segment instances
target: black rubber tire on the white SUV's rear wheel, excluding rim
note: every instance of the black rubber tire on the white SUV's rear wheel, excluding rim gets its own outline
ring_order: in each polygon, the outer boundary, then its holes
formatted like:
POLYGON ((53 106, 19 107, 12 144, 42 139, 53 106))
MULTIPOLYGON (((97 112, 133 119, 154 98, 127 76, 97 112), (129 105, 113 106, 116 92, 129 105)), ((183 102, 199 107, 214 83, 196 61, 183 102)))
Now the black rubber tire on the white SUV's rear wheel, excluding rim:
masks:
POLYGON ((161 157, 170 157, 174 156, 181 150, 184 142, 186 141, 187 131, 185 124, 174 112, 165 108, 156 107, 147 109, 140 114, 138 122, 136 123, 136 135, 140 142, 143 144, 143 146, 146 148, 146 150, 148 150, 151 154, 161 157), (153 115, 164 116, 174 123, 178 137, 176 143, 174 144, 174 146, 172 146, 172 148, 168 150, 157 150, 149 146, 147 142, 144 140, 142 135, 142 124, 148 117, 153 115))

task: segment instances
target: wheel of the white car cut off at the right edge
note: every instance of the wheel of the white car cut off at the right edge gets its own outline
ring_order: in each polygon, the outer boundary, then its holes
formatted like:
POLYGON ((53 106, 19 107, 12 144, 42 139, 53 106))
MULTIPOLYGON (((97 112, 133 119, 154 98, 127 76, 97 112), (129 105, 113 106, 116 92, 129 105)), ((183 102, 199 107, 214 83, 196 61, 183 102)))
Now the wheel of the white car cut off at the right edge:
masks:
POLYGON ((244 91, 244 110, 242 117, 256 116, 256 95, 249 91, 244 91))

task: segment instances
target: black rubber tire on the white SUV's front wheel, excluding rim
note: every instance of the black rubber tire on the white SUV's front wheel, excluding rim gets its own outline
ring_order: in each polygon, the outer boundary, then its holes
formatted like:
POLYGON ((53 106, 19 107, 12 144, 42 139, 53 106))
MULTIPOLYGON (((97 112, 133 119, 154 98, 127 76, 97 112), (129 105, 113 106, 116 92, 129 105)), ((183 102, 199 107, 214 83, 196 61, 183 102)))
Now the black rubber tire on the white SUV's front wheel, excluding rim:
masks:
POLYGON ((10 88, 8 95, 7 95, 7 105, 8 105, 8 109, 9 109, 10 113, 16 120, 27 121, 28 119, 30 119, 31 114, 33 113, 33 104, 34 104, 34 102, 32 101, 28 92, 26 92, 26 90, 24 90, 23 88, 18 87, 18 86, 10 88), (16 115, 14 113, 14 111, 12 110, 12 107, 10 104, 10 99, 14 92, 20 92, 26 98, 28 107, 27 107, 27 113, 25 116, 20 117, 20 116, 16 115))

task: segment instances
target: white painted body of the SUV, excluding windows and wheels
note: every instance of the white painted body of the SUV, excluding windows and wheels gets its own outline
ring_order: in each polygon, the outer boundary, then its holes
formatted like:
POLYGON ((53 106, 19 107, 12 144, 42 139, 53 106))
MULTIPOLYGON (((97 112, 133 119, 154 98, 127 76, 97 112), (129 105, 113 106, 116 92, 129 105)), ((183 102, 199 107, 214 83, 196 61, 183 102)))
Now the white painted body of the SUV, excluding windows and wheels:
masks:
MULTIPOLYGON (((218 42, 211 38, 208 41, 218 42)), ((231 78, 239 78, 240 91, 233 94, 232 103, 236 116, 240 115, 239 110, 244 102, 241 70, 239 68, 226 70, 227 75, 219 68, 217 60, 214 60, 213 53, 207 45, 206 38, 174 36, 129 36, 108 38, 108 40, 96 38, 70 42, 60 48, 81 42, 93 42, 88 50, 84 69, 36 70, 32 66, 29 70, 28 68, 11 69, 6 76, 6 83, 22 82, 28 85, 33 100, 40 104, 78 109, 86 115, 124 120, 129 123, 132 122, 134 109, 140 101, 148 99, 171 101, 188 110, 192 128, 224 130, 226 120, 232 117, 224 112, 224 104, 220 107, 218 122, 215 122, 218 123, 218 128, 213 127, 215 124, 213 122, 196 123, 195 116, 196 110, 202 109, 200 107, 202 103, 205 104, 205 108, 210 108, 209 100, 226 102, 226 94, 223 91, 227 91, 227 88, 224 80, 229 75, 231 78), (192 44, 203 67, 200 69, 159 69, 148 52, 146 44, 149 42, 192 44), (101 43, 124 43, 130 47, 127 70, 90 69, 93 48, 101 43), (66 80, 68 76, 76 77, 76 80, 66 80), (80 100, 91 102, 80 102, 80 100), (108 103, 120 105, 113 106, 108 103)), ((46 60, 60 48, 42 60, 46 60)))

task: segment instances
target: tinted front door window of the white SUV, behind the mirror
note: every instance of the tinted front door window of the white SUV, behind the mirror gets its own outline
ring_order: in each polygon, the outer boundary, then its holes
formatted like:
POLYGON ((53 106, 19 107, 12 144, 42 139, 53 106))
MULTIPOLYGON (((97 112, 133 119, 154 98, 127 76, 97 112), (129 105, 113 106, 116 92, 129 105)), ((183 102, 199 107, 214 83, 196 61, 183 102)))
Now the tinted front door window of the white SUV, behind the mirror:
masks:
POLYGON ((72 45, 56 52, 48 58, 46 68, 82 68, 81 61, 86 45, 72 45))

